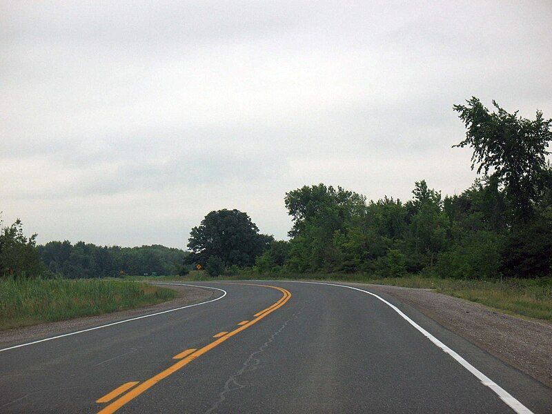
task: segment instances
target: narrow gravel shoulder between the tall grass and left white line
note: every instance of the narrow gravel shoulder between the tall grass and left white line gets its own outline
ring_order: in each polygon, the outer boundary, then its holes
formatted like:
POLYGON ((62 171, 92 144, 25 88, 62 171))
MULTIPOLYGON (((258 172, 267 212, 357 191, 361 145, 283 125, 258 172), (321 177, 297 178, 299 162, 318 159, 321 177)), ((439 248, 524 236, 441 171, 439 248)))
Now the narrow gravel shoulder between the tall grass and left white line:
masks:
POLYGON ((6 348, 8 346, 21 344, 23 342, 37 341, 38 339, 61 335, 63 333, 80 331, 81 329, 109 324, 111 322, 117 322, 131 317, 146 315, 148 313, 166 311, 170 308, 197 304, 199 302, 209 300, 211 297, 215 297, 215 295, 217 295, 217 293, 215 293, 213 290, 192 286, 174 285, 163 287, 177 290, 177 298, 172 299, 168 302, 163 302, 161 304, 128 309, 127 311, 103 313, 102 315, 81 317, 77 319, 69 319, 66 321, 50 322, 47 324, 28 326, 26 328, 14 328, 8 329, 6 331, 0 331, 0 348, 6 348))

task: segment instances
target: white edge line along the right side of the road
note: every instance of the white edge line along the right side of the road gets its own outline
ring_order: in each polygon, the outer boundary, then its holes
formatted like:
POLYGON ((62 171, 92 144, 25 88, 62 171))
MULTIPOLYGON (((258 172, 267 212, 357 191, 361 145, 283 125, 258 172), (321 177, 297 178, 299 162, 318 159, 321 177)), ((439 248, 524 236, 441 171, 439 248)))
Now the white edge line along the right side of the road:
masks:
MULTIPOLYGON (((255 282, 267 282, 264 281, 255 281, 255 282)), ((460 365, 462 365, 464 368, 466 368, 469 372, 471 372, 475 377, 477 377, 477 380, 480 380, 483 385, 488 386, 491 388, 491 390, 500 397, 500 400, 504 401, 510 408, 513 409, 517 414, 533 414, 529 408, 524 406, 521 402, 517 401, 508 391, 504 390, 501 386, 496 384, 493 380, 491 380, 489 377, 487 377, 484 373, 479 371, 475 366, 470 364, 466 361, 463 357, 455 353, 451 348, 443 344, 439 339, 431 335, 431 333, 428 333, 422 326, 418 325, 416 322, 414 322, 410 317, 406 316, 397 306, 391 304, 391 302, 386 301, 383 297, 380 297, 376 295, 375 293, 368 292, 368 290, 355 288, 353 286, 346 286, 346 285, 339 285, 339 284, 333 284, 333 283, 324 283, 324 282, 304 282, 300 280, 282 280, 281 282, 290 282, 290 283, 308 283, 308 284, 322 284, 322 285, 328 285, 328 286, 338 286, 340 288, 349 288, 353 290, 359 290, 360 292, 368 293, 368 295, 372 295, 373 297, 377 297, 377 299, 380 299, 384 304, 391 307, 393 311, 398 313, 403 319, 406 320, 409 324, 414 326, 418 331, 422 333, 426 338, 428 338, 433 344, 437 345, 439 348, 442 349, 445 353, 448 353, 453 357, 460 365)))

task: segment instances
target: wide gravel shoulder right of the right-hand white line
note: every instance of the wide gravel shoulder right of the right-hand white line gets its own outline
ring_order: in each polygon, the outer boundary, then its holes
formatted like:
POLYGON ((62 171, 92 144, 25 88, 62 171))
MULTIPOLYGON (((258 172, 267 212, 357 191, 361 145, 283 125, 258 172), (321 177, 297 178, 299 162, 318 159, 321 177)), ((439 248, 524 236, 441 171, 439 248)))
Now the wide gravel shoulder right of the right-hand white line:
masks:
POLYGON ((430 289, 354 285, 413 306, 449 331, 552 388, 552 324, 506 315, 430 289))

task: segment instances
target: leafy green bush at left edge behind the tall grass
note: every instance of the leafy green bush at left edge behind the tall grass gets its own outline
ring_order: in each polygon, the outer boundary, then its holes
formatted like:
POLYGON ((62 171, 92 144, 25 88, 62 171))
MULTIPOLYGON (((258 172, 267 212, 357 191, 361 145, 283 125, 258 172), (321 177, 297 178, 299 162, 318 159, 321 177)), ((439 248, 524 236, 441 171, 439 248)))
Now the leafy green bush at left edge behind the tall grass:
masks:
POLYGON ((44 273, 36 238, 23 235, 20 219, 9 227, 2 227, 0 220, 0 276, 37 277, 44 273))

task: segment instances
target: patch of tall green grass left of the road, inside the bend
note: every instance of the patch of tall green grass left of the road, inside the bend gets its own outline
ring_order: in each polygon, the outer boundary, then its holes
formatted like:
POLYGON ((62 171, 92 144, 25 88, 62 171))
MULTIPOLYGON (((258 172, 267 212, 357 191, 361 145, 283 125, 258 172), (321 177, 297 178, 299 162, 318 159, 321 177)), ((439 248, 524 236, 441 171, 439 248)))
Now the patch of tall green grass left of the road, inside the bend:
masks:
POLYGON ((165 302, 174 290, 105 279, 0 279, 0 330, 165 302))

